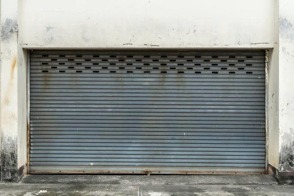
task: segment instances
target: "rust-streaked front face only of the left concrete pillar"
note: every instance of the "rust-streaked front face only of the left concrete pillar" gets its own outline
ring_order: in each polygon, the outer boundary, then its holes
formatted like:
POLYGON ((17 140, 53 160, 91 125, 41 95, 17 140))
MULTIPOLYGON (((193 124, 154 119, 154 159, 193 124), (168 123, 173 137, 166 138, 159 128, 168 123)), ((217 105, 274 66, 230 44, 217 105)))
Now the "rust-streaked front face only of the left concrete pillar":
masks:
POLYGON ((17 0, 1 0, 0 120, 2 181, 17 178, 17 5, 17 0))

